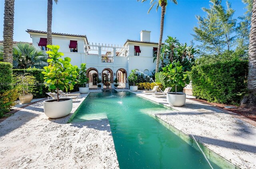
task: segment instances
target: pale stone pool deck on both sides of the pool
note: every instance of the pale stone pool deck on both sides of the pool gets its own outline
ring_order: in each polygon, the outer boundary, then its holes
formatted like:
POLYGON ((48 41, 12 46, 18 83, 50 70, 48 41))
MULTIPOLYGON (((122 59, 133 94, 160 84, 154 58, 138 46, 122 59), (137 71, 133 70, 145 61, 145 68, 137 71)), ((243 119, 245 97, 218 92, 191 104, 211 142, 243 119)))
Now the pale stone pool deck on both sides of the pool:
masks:
MULTIPOLYGON (((134 93, 175 109, 154 114, 157 118, 193 135, 234 165, 256 168, 256 122, 194 100, 173 107, 166 98, 134 93)), ((118 169, 108 119, 67 124, 87 95, 81 94, 71 114, 59 119, 45 116, 42 100, 27 107, 17 105, 18 112, 0 123, 0 168, 118 169)))

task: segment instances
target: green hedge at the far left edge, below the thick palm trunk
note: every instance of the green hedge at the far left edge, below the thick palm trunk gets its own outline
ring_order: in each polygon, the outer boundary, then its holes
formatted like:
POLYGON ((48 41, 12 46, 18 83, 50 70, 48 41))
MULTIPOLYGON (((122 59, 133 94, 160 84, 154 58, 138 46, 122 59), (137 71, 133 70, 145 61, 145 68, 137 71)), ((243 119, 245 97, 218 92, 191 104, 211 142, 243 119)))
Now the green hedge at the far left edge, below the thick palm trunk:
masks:
POLYGON ((15 105, 18 92, 13 88, 12 65, 0 62, 0 118, 15 105))

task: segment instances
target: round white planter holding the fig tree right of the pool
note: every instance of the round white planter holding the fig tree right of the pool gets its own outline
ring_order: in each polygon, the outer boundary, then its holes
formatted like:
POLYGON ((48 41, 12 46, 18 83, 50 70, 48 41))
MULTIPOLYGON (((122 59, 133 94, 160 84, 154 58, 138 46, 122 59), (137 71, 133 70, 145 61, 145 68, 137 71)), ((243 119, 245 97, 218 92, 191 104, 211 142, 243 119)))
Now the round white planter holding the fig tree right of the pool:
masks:
POLYGON ((172 106, 183 106, 186 102, 185 93, 168 92, 167 93, 167 102, 172 106))

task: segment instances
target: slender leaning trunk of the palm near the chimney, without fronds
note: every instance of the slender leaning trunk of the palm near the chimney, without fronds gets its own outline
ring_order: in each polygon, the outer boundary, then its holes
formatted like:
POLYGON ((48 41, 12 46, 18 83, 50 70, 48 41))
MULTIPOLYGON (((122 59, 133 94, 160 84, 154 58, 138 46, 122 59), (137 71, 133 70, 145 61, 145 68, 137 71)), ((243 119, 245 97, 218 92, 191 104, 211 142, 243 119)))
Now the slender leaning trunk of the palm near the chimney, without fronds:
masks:
POLYGON ((161 7, 162 7, 162 10, 161 10, 161 22, 160 22, 160 37, 159 37, 158 49, 157 49, 157 55, 156 55, 156 73, 158 73, 158 69, 159 69, 161 45, 162 45, 163 31, 164 31, 164 14, 165 14, 166 3, 162 3, 161 7))

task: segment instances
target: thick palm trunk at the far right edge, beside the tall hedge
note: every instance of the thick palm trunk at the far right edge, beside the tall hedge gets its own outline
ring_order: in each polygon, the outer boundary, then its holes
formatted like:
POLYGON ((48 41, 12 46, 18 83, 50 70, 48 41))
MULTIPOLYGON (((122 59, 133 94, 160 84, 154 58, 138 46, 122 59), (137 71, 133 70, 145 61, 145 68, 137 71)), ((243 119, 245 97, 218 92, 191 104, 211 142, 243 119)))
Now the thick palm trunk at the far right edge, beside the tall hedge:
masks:
POLYGON ((252 18, 249 42, 249 72, 248 72, 248 95, 244 96, 241 104, 243 106, 256 105, 256 88, 253 81, 256 81, 256 0, 252 4, 252 18))

